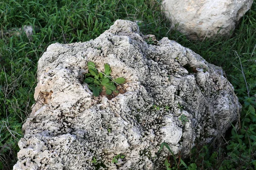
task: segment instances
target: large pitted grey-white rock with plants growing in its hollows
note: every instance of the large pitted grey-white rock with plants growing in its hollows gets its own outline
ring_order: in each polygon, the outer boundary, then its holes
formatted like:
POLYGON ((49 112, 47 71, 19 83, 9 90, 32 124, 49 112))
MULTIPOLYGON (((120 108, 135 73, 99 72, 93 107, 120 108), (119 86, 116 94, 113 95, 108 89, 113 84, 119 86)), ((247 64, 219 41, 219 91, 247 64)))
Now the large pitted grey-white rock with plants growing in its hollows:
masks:
POLYGON ((38 61, 37 102, 14 170, 160 170, 170 154, 156 156, 161 143, 188 156, 237 120, 238 99, 218 69, 126 20, 95 40, 52 44, 38 61), (89 61, 124 77, 123 93, 93 96, 83 82, 89 61))

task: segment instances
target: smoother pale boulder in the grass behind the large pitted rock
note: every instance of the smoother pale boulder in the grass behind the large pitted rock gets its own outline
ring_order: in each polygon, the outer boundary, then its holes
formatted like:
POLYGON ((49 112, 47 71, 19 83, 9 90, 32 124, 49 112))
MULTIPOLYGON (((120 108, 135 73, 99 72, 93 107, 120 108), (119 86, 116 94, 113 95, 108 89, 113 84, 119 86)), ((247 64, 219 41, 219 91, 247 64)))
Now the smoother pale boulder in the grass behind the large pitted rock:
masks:
POLYGON ((172 23, 190 39, 229 36, 253 0, 163 0, 172 23))

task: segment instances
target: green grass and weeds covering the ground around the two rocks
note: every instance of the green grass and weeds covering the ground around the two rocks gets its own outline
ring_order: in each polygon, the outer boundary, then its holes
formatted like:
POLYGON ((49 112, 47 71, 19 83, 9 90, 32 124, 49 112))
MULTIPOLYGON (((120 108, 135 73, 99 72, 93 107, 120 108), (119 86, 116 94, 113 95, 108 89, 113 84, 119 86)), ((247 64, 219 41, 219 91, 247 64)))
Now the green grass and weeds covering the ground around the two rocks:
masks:
MULTIPOLYGON (((256 168, 256 3, 227 40, 189 41, 170 25, 160 11, 159 0, 2 0, 0 2, 0 169, 17 161, 21 127, 34 103, 36 65, 47 46, 88 41, 107 30, 115 20, 140 20, 143 34, 169 37, 191 48, 208 62, 221 66, 243 105, 241 128, 231 128, 225 138, 196 146, 184 164, 175 169, 256 168), (31 25, 25 34, 8 37, 3 32, 31 25), (187 166, 187 168, 186 168, 187 166)), ((180 156, 181 157, 181 156, 180 156)), ((169 163, 172 164, 172 157, 169 163)), ((166 168, 168 169, 168 168, 166 168)))

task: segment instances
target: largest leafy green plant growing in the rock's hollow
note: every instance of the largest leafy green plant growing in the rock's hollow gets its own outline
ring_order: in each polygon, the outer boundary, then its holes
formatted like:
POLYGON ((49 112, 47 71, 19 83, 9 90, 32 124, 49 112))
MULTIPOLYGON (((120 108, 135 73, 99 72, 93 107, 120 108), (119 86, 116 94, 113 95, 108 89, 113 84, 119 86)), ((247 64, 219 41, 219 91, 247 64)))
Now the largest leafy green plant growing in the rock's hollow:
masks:
POLYGON ((110 76, 111 68, 108 64, 104 65, 104 72, 99 71, 93 62, 88 62, 87 66, 89 73, 85 74, 84 82, 88 84, 94 96, 99 96, 102 92, 102 87, 105 88, 107 95, 111 95, 113 91, 116 91, 116 85, 125 82, 125 78, 123 77, 113 79, 110 76))

